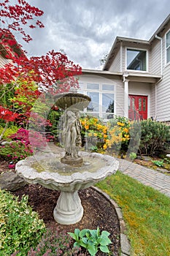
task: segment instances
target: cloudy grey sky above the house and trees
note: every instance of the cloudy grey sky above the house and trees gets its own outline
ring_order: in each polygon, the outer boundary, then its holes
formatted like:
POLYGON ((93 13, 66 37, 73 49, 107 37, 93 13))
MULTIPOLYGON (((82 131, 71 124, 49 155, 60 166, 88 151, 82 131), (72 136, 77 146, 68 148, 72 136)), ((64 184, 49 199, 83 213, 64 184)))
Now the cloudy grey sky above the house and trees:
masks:
POLYGON ((29 0, 45 12, 28 56, 63 49, 82 68, 98 69, 115 38, 150 39, 169 15, 169 0, 29 0))

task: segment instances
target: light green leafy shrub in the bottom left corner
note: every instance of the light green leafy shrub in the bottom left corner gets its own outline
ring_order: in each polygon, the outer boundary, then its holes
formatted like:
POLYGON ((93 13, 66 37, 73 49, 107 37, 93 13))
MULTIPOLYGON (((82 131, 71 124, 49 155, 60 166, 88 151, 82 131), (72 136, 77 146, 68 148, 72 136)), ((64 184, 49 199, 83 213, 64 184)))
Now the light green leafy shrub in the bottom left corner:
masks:
POLYGON ((0 252, 1 255, 26 255, 35 247, 45 232, 45 224, 28 206, 28 197, 20 201, 9 192, 0 189, 0 252))

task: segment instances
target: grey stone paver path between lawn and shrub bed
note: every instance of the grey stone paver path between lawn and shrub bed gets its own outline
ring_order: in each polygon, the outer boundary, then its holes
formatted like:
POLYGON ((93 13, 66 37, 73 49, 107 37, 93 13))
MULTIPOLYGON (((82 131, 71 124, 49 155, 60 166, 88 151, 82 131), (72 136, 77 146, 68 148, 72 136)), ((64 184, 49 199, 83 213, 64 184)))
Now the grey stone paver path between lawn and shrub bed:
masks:
POLYGON ((119 170, 131 178, 135 178, 146 186, 159 190, 170 197, 170 176, 159 173, 142 165, 134 164, 125 159, 118 159, 120 162, 119 170))

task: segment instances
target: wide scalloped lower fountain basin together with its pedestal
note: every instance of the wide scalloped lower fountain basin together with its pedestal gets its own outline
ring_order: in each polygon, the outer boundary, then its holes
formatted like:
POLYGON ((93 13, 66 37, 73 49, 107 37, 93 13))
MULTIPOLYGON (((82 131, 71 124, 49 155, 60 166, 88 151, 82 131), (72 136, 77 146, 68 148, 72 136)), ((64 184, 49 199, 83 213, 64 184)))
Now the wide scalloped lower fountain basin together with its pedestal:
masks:
POLYGON ((16 165, 19 176, 30 184, 41 184, 48 189, 60 190, 53 215, 56 222, 71 225, 79 222, 83 216, 83 208, 79 189, 85 189, 107 176, 114 174, 118 161, 104 154, 80 152, 83 165, 80 167, 65 165, 60 159, 64 152, 35 154, 16 165))

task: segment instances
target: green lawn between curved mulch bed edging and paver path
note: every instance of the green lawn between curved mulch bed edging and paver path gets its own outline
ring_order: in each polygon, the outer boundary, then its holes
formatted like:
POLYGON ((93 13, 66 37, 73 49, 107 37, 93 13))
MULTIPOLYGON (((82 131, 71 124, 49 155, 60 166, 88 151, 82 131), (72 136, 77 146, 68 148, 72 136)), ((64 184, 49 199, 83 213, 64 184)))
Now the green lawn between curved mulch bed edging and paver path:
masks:
POLYGON ((170 255, 170 198, 119 171, 97 187, 122 208, 135 256, 170 255))

